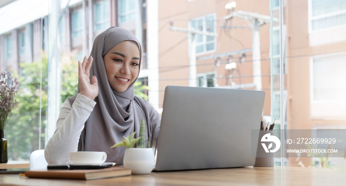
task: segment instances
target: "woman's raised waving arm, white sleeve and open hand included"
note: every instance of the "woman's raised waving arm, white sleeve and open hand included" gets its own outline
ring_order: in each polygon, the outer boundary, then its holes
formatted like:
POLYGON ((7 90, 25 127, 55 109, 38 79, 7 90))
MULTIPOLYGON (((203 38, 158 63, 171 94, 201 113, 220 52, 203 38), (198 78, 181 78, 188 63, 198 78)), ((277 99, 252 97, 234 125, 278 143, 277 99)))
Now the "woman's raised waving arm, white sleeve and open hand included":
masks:
POLYGON ((90 82, 90 69, 93 58, 87 56, 83 62, 78 61, 78 83, 80 94, 71 106, 66 100, 61 107, 56 130, 44 149, 45 159, 49 164, 69 163, 70 152, 77 151, 79 138, 84 123, 95 106, 93 101, 98 95, 97 78, 93 76, 90 82))

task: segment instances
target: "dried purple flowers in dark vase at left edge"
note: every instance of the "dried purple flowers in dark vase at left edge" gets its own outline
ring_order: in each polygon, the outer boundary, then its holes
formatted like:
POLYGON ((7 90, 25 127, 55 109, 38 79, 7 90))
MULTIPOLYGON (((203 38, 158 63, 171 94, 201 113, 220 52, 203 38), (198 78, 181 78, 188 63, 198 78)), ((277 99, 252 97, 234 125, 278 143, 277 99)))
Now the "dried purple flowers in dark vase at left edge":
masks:
POLYGON ((13 79, 8 71, 0 74, 0 163, 7 163, 7 140, 3 138, 3 130, 12 109, 18 104, 16 100, 19 82, 13 79))

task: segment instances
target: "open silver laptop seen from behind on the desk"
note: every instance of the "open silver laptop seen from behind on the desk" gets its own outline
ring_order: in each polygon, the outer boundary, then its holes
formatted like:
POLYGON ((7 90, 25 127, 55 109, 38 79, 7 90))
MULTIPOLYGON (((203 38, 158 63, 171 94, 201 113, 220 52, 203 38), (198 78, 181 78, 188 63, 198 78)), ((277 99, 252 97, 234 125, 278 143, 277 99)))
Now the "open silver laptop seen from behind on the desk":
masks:
POLYGON ((253 166, 263 102, 264 91, 167 86, 155 170, 253 166))

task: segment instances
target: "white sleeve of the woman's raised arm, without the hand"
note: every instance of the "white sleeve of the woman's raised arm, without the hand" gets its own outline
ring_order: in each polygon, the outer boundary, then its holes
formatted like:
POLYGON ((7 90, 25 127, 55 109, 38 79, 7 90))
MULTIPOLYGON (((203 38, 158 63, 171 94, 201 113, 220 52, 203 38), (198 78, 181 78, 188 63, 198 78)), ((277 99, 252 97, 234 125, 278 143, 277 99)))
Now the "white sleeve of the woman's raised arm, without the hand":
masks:
POLYGON ((56 130, 48 141, 44 156, 48 164, 70 162, 70 152, 77 151, 79 138, 96 102, 81 94, 77 95, 73 106, 68 100, 61 107, 56 130))

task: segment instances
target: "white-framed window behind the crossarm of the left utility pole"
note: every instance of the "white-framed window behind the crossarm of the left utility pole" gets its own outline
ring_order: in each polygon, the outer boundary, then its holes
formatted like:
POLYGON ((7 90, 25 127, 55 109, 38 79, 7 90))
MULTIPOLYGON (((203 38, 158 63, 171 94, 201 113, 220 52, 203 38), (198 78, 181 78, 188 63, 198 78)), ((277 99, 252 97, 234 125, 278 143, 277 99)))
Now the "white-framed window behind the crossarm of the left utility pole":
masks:
MULTIPOLYGON (((216 31, 215 13, 199 17, 190 21, 190 28, 202 32, 215 33, 216 31)), ((213 36, 196 35, 196 54, 202 54, 216 49, 216 38, 213 36)))

